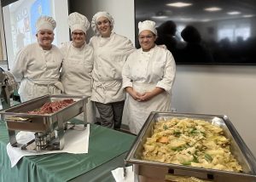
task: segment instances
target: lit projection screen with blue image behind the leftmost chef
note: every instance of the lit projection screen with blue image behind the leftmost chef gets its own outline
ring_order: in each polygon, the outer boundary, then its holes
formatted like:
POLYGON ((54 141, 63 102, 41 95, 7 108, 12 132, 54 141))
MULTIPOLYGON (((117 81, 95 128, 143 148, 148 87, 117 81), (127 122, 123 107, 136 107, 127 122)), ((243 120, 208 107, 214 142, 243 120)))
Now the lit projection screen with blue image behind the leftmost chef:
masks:
POLYGON ((37 42, 36 21, 41 15, 52 16, 56 21, 54 44, 69 41, 67 25, 68 0, 19 0, 3 5, 3 26, 8 67, 11 68, 20 48, 37 42))

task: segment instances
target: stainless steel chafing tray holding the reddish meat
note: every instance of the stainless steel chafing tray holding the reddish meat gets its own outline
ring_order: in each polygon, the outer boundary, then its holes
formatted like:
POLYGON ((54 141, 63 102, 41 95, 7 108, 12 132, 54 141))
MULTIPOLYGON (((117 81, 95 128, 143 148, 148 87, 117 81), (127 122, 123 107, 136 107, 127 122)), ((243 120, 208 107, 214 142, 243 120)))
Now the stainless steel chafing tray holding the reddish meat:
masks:
MULTIPOLYGON (((1 119, 6 121, 9 130, 32 131, 32 132, 50 132, 58 127, 57 121, 66 122, 69 119, 76 117, 81 112, 85 111, 87 96, 74 95, 45 95, 34 100, 15 105, 9 109, 0 111, 1 119), (75 102, 67 107, 62 108, 51 114, 30 114, 28 111, 33 111, 40 108, 46 102, 56 100, 73 99, 75 102), (12 119, 14 117, 20 119, 12 119)), ((84 117, 86 120, 86 117, 84 117)), ((86 121, 84 121, 86 122, 86 121)))

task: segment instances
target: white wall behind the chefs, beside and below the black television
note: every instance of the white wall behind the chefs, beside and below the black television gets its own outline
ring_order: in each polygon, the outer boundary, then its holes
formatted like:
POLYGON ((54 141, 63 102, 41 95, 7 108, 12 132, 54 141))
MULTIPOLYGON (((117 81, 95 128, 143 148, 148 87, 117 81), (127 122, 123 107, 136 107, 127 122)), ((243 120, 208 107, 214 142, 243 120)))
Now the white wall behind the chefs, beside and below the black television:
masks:
MULTIPOLYGON (((133 0, 90 0, 79 3, 80 13, 107 10, 115 31, 134 41, 133 0), (86 10, 87 9, 87 10, 86 10)), ((90 17, 91 20, 91 17, 90 17)), ((256 58, 255 58, 256 59, 256 58)), ((177 65, 172 107, 178 112, 227 115, 256 156, 256 66, 177 65)))

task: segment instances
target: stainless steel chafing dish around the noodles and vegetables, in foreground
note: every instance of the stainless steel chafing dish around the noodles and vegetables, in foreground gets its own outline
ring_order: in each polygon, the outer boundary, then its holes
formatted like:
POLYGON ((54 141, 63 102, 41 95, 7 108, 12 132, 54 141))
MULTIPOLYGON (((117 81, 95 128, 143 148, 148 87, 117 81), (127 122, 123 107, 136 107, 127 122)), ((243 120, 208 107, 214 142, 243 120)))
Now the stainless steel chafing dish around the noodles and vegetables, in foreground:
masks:
POLYGON ((247 145, 237 133, 236 128, 227 116, 201 115, 172 112, 151 112, 143 128, 137 135, 137 139, 131 146, 130 151, 125 157, 126 163, 134 164, 135 173, 143 178, 154 179, 154 181, 164 181, 166 175, 193 176, 195 178, 207 179, 212 181, 256 181, 256 159, 247 145), (152 136, 155 122, 160 120, 177 118, 202 119, 224 129, 224 135, 230 139, 230 151, 240 163, 243 172, 236 173, 224 170, 209 168, 195 168, 172 163, 149 162, 142 160, 143 144, 146 139, 152 136))

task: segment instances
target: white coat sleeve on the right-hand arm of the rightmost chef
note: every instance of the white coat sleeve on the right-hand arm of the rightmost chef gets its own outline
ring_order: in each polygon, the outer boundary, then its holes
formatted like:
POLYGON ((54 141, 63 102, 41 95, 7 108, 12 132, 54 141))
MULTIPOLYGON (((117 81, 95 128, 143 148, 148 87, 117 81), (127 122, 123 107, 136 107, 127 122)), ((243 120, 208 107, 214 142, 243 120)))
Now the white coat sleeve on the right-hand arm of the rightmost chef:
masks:
POLYGON ((166 92, 172 92, 172 84, 174 82, 175 73, 176 73, 176 64, 175 60, 170 51, 167 51, 166 55, 166 67, 164 71, 163 78, 157 83, 156 87, 164 88, 166 92))

